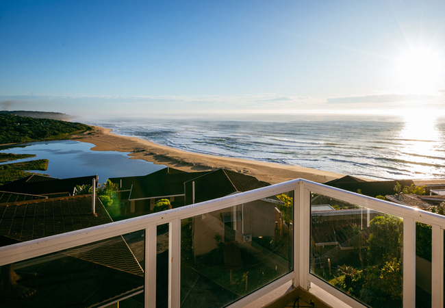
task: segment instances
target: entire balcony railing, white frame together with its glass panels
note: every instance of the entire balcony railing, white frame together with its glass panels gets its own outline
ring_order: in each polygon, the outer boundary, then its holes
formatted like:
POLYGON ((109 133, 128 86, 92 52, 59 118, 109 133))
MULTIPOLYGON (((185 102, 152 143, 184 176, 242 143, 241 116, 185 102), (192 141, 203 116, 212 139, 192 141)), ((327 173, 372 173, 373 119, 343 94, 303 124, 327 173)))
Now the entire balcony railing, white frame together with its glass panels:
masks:
MULTIPOLYGON (((15 264, 39 274, 44 264, 59 260, 51 265, 58 266, 53 274, 64 268, 77 274, 86 270, 86 274, 97 271, 103 275, 104 280, 97 283, 105 285, 85 287, 88 290, 112 292, 110 283, 127 286, 125 290, 115 288, 116 294, 107 296, 106 301, 98 299, 98 307, 137 294, 143 294, 140 302, 144 307, 155 307, 162 293, 156 290, 162 278, 168 283, 168 307, 199 307, 203 298, 212 301, 212 292, 220 292, 214 296, 223 298, 214 302, 214 307, 244 307, 289 281, 305 289, 314 283, 352 307, 366 307, 372 305, 366 297, 372 282, 362 281, 362 289, 354 289, 354 275, 359 268, 365 270, 366 259, 368 275, 372 270, 385 274, 386 266, 386 280, 394 290, 389 293, 393 297, 384 300, 415 307, 417 223, 431 226, 431 274, 426 277, 431 279, 431 306, 443 307, 444 216, 304 179, 4 246, 0 248, 0 266, 15 264), (160 226, 168 230, 164 232, 166 277, 160 277, 162 268, 157 264, 160 226), (378 242, 382 235, 386 242, 378 242), (390 261, 382 264, 379 254, 390 261), (107 257, 112 260, 101 261, 107 257), (125 258, 133 259, 125 263, 125 258), (85 265, 84 261, 90 262, 85 265), (87 270, 90 264, 96 267, 87 270), (344 275, 349 280, 335 284, 332 279, 338 275, 333 271, 343 265, 353 268, 344 275), (117 274, 107 274, 110 268, 117 274), (110 277, 118 281, 111 282, 110 277)), ((68 277, 69 271, 65 275, 68 277)), ((73 282, 71 286, 67 294, 83 296, 79 285, 73 282)), ((210 307, 209 303, 202 305, 210 307)))

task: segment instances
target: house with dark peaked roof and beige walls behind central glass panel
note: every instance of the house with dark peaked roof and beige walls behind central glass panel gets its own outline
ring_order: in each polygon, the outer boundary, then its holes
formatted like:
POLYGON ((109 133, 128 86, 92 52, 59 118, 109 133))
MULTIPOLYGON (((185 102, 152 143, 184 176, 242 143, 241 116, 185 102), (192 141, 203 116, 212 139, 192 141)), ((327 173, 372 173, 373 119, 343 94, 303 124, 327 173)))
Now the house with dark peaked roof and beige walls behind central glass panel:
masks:
MULTIPOLYGON (((186 205, 208 201, 230 194, 238 194, 257 188, 264 188, 268 183, 255 177, 243 175, 231 170, 218 169, 184 183, 186 205)), ((282 204, 276 196, 237 205, 231 209, 212 211, 209 214, 193 218, 194 256, 205 255, 217 247, 220 242, 236 242, 249 245, 252 240, 275 238, 276 221, 281 218, 277 204, 282 204)))

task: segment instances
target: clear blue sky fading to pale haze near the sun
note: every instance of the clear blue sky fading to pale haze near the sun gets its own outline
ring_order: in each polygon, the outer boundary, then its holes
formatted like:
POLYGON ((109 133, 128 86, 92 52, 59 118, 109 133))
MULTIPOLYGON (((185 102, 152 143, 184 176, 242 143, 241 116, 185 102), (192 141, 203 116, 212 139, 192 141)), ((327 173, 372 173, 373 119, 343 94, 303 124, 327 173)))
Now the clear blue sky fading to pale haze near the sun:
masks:
POLYGON ((444 1, 0 0, 0 108, 445 112, 444 1))

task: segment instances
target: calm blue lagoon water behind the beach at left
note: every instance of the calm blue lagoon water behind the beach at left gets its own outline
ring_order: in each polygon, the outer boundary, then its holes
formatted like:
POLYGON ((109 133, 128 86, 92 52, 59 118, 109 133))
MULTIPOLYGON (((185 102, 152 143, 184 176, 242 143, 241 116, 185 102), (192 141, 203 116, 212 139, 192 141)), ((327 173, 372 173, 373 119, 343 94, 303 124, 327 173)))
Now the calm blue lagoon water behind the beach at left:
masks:
POLYGON ((147 175, 165 168, 144 160, 129 159, 129 153, 126 152, 92 151, 92 147, 94 144, 87 142, 58 140, 1 146, 0 153, 34 154, 36 157, 17 159, 13 162, 49 159, 48 169, 36 172, 60 179, 97 174, 100 183, 110 177, 147 175))

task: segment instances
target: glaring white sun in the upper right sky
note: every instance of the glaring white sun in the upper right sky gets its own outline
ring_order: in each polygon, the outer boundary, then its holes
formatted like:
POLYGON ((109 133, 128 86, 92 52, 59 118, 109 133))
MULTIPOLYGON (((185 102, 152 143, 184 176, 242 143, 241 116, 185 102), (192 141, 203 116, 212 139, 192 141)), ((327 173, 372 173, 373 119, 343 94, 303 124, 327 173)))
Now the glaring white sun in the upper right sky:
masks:
POLYGON ((397 75, 398 82, 407 90, 433 90, 440 86, 444 61, 431 49, 411 48, 398 59, 397 75))

